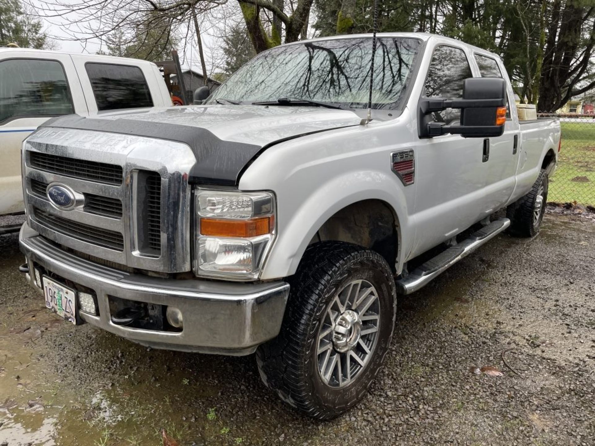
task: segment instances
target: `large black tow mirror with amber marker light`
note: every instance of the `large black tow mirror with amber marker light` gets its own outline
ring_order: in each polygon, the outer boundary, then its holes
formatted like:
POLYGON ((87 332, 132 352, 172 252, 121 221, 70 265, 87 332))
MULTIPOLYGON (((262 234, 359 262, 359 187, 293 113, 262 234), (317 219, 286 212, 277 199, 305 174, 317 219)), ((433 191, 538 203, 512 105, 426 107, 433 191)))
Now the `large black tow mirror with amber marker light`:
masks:
POLYGON ((465 138, 501 136, 506 123, 506 82, 502 78, 470 77, 463 83, 463 99, 421 98, 419 100, 419 137, 431 138, 446 133, 465 138), (433 112, 461 109, 461 125, 446 125, 432 120, 433 112))

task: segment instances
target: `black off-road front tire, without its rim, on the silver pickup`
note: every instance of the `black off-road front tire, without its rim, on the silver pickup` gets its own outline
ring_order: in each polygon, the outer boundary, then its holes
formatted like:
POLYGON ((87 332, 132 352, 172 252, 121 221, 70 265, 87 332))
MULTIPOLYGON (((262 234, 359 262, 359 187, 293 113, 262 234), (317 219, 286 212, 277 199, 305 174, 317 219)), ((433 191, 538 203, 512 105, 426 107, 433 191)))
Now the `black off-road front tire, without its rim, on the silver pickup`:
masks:
POLYGON ((280 398, 311 417, 332 419, 361 400, 389 350, 396 315, 396 288, 386 260, 377 252, 339 241, 308 247, 295 275, 277 338, 256 351, 262 381, 280 398), (353 382, 329 387, 318 371, 318 330, 327 306, 345 284, 364 279, 377 290, 380 321, 369 362, 353 382))

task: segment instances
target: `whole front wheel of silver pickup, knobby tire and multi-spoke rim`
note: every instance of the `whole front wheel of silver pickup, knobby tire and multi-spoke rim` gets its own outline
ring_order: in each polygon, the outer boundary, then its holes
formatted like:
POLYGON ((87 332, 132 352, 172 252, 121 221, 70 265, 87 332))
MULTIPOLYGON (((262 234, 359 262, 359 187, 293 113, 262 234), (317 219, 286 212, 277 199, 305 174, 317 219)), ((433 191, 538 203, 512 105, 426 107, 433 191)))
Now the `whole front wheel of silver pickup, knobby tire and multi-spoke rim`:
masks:
POLYGON ((380 370, 396 314, 393 274, 378 253, 327 241, 306 250, 290 287, 280 334, 256 352, 258 369, 284 401, 331 419, 380 370))

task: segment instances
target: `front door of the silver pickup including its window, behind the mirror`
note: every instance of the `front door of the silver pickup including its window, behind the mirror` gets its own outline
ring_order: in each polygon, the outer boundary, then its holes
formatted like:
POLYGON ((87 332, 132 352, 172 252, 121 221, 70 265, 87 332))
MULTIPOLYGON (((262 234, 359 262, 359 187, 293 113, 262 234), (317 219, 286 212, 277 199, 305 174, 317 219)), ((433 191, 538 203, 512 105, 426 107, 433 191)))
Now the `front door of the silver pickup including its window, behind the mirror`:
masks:
MULTIPOLYGON (((464 49, 448 42, 437 43, 433 51, 428 51, 431 59, 421 96, 462 99, 463 81, 473 77, 464 49)), ((434 121, 446 124, 456 124, 460 117, 458 109, 433 116, 434 121)), ((485 144, 481 138, 453 134, 415 141, 415 225, 417 234, 423 236, 417 237, 411 256, 448 240, 489 215, 485 190, 488 163, 484 160, 486 149, 491 156, 491 147, 485 144)))

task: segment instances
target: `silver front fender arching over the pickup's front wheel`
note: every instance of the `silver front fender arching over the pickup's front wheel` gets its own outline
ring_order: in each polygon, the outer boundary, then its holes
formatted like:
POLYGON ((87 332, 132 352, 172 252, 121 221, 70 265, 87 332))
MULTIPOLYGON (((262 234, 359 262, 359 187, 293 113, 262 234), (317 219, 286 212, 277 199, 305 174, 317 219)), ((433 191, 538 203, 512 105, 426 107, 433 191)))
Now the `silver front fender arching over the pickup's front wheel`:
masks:
POLYGON ((295 273, 309 242, 340 209, 361 200, 381 200, 397 219, 397 260, 411 252, 410 227, 417 184, 403 186, 392 172, 391 153, 411 149, 410 119, 334 129, 271 147, 246 169, 240 190, 273 190, 277 195, 277 238, 262 279, 295 273))

